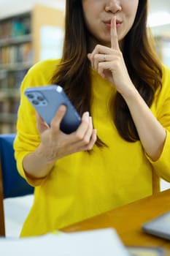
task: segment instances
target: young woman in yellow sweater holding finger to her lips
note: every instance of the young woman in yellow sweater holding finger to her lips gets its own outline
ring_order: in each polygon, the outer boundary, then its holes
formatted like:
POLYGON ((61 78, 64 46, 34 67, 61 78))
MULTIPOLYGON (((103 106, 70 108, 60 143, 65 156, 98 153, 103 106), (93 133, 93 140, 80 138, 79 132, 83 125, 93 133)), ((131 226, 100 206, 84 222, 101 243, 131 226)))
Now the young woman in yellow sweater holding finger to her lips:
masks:
POLYGON ((15 157, 35 187, 21 236, 41 235, 158 192, 170 181, 170 71, 147 33, 147 0, 66 0, 61 60, 32 67, 21 86, 15 157), (50 127, 23 92, 63 86, 82 116, 50 127))

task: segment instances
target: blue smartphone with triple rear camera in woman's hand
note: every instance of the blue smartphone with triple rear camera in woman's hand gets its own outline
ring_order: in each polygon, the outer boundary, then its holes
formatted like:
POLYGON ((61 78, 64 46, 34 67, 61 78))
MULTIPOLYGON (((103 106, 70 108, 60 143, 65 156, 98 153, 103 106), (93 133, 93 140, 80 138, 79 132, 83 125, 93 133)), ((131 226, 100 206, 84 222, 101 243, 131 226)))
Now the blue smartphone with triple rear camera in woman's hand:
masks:
POLYGON ((79 127, 81 118, 61 86, 31 87, 26 89, 24 94, 49 126, 59 106, 66 105, 66 113, 61 121, 61 131, 70 134, 79 127))

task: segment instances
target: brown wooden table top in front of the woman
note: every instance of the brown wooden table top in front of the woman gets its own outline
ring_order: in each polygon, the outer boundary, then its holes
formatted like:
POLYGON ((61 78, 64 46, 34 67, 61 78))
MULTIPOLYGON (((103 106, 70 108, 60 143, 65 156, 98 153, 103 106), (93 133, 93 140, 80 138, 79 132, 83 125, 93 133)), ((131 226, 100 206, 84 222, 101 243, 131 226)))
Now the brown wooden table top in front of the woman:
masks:
POLYGON ((170 241, 142 231, 144 222, 166 211, 170 211, 170 189, 65 227, 62 231, 75 232, 114 227, 126 246, 161 246, 165 249, 166 255, 170 255, 170 241))

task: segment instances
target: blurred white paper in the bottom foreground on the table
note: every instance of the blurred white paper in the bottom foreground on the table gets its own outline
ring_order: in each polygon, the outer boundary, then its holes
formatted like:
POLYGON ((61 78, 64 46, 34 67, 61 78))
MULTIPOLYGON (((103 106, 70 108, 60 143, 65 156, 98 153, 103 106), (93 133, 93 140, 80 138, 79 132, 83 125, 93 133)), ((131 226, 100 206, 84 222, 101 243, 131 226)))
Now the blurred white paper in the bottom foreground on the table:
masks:
POLYGON ((0 238, 1 256, 129 256, 114 229, 0 238))

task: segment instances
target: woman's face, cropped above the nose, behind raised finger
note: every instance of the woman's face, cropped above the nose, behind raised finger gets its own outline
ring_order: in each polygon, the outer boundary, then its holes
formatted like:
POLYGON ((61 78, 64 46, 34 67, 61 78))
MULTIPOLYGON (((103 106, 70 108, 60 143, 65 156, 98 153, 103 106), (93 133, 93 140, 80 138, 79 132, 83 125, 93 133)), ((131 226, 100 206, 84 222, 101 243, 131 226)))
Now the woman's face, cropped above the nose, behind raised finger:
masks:
POLYGON ((85 23, 97 43, 110 45, 110 20, 117 20, 117 37, 122 40, 131 29, 139 0, 82 0, 85 23))

